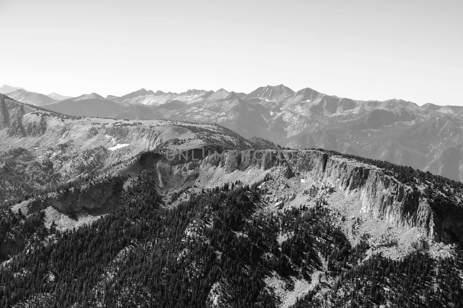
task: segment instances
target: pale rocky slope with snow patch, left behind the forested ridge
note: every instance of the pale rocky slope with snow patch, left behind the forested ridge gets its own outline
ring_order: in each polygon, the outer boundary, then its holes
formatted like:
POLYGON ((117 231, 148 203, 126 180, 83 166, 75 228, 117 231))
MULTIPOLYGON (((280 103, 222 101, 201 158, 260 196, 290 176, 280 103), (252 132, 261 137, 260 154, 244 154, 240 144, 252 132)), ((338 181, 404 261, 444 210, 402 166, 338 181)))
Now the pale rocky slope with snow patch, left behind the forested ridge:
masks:
POLYGON ((91 175, 141 151, 208 142, 224 148, 275 147, 217 125, 69 117, 0 95, 0 151, 7 153, 0 155, 1 176, 11 176, 0 184, 0 191, 8 192, 0 205, 19 191, 50 189, 47 185, 91 175))

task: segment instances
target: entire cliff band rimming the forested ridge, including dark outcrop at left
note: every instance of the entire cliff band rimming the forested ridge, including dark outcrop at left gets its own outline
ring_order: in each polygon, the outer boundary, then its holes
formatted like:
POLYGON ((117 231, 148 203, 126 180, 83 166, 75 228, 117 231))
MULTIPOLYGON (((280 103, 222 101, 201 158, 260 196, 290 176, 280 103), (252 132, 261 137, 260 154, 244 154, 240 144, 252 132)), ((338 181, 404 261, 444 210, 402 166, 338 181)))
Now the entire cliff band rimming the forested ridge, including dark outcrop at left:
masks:
MULTIPOLYGON (((125 168, 127 170, 121 170, 118 174, 138 172, 149 167, 158 172, 159 182, 156 185, 164 187, 167 184, 167 187, 175 188, 192 181, 194 174, 203 172, 204 167, 221 168, 228 174, 250 168, 264 173, 276 167, 288 178, 296 175, 300 178, 310 177, 319 187, 336 187, 346 197, 355 195, 361 202, 362 212, 390 224, 416 227, 422 234, 438 242, 452 243, 463 238, 461 193, 454 193, 450 198, 429 199, 422 186, 412 187, 385 174, 381 168, 322 151, 224 152, 217 147, 206 148, 205 155, 209 150, 211 155, 198 162, 188 161, 189 157, 186 161, 178 158, 169 161, 163 159, 161 154, 148 153, 146 155, 154 155, 154 158, 140 163, 141 167, 138 167, 141 169, 128 166, 125 168), (220 154, 214 155, 213 152, 220 154)), ((198 152, 194 157, 201 155, 198 152)), ((114 177, 110 181, 71 188, 25 202, 29 212, 47 206, 64 212, 91 210, 117 202, 123 185, 118 179, 114 177)), ((444 196, 440 191, 435 195, 444 196)))

